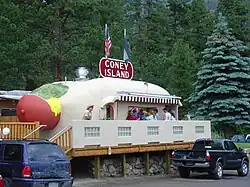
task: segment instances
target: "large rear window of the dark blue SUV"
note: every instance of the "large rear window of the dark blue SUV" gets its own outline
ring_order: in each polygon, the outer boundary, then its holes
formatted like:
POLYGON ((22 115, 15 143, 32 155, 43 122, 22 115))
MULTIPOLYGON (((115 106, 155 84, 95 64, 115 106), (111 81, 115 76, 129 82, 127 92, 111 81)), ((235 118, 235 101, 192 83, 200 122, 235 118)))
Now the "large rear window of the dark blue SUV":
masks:
POLYGON ((53 161, 57 159, 67 160, 61 148, 55 144, 37 143, 28 144, 28 155, 30 161, 53 161))

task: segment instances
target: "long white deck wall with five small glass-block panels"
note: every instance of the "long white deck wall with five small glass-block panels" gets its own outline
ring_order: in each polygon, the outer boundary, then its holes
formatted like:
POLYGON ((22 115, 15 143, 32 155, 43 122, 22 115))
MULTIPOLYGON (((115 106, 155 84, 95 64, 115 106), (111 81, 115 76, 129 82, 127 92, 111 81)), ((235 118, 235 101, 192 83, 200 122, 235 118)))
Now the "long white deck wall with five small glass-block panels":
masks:
POLYGON ((211 138, 209 121, 73 120, 70 124, 73 127, 73 148, 190 142, 197 138, 211 138))

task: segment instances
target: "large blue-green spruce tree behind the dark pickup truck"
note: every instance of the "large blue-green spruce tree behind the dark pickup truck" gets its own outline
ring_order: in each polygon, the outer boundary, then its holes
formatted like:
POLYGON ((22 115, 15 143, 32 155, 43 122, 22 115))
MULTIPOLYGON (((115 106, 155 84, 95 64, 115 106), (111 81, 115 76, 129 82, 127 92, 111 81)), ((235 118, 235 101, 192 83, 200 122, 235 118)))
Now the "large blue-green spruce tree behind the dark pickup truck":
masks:
POLYGON ((227 134, 231 127, 250 124, 250 58, 221 14, 203 51, 195 91, 189 98, 194 119, 211 120, 227 134))

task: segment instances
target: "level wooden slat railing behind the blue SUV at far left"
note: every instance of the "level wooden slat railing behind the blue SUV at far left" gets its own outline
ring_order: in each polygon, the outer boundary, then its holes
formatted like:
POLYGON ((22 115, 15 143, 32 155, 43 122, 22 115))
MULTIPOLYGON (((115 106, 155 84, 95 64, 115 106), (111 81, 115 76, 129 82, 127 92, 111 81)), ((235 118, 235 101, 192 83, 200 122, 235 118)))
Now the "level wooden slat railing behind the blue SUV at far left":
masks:
POLYGON ((30 139, 39 138, 39 122, 24 123, 24 122, 0 122, 0 139, 21 139, 29 135, 30 139), (7 136, 2 134, 2 130, 7 127, 10 133, 7 136))

